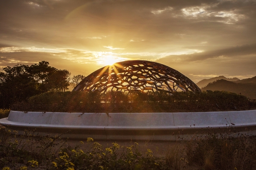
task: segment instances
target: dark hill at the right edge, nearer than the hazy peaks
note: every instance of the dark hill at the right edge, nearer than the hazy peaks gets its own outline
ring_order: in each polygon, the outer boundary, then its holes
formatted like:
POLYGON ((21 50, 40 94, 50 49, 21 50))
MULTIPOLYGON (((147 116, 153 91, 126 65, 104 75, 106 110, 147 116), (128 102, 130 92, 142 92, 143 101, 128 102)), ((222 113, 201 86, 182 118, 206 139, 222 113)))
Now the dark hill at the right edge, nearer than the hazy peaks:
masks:
POLYGON ((230 91, 236 94, 241 94, 247 96, 250 99, 256 99, 256 83, 251 83, 255 77, 250 78, 249 80, 243 79, 238 81, 231 82, 224 79, 216 80, 215 82, 209 83, 204 88, 201 88, 202 91, 212 90, 212 91, 230 91), (247 83, 247 81, 249 83, 247 83))

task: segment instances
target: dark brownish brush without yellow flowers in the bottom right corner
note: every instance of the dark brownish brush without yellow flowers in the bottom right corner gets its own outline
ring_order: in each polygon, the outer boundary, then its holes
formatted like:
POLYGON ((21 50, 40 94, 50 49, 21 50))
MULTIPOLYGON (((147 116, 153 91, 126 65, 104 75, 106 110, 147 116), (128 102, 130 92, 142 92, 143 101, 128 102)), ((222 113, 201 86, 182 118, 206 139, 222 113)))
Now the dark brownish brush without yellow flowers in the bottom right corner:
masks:
MULTIPOLYGON (((235 127, 230 131, 233 130, 235 127)), ((253 170, 256 168, 255 142, 255 136, 210 131, 204 137, 186 142, 186 158, 204 170, 253 170)))

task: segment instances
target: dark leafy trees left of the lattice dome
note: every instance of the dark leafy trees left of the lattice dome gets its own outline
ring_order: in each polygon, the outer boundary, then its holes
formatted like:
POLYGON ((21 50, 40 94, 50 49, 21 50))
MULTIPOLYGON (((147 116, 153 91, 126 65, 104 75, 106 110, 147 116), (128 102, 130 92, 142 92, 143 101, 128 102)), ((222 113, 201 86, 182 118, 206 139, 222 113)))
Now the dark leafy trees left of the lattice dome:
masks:
POLYGON ((69 85, 70 72, 51 67, 47 61, 7 66, 0 72, 0 108, 47 91, 66 91, 69 85))

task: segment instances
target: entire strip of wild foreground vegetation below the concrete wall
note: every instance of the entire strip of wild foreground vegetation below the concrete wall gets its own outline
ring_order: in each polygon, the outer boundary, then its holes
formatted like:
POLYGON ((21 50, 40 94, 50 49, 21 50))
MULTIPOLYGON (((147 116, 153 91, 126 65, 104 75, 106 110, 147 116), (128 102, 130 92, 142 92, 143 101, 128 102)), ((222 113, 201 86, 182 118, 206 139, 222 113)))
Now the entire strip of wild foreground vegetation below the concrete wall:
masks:
POLYGON ((61 136, 36 137, 25 131, 18 136, 0 129, 2 170, 252 170, 256 168, 256 138, 227 132, 210 132, 190 141, 166 146, 165 156, 134 142, 102 147, 87 138, 75 146, 61 136))

